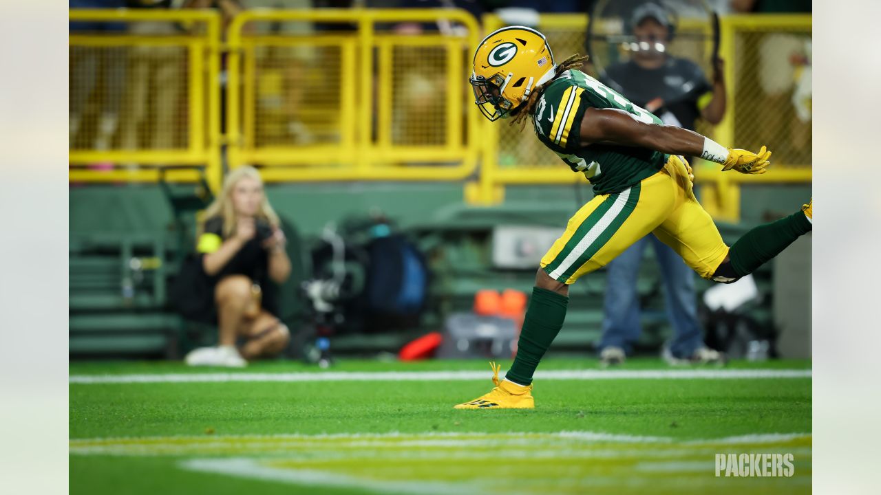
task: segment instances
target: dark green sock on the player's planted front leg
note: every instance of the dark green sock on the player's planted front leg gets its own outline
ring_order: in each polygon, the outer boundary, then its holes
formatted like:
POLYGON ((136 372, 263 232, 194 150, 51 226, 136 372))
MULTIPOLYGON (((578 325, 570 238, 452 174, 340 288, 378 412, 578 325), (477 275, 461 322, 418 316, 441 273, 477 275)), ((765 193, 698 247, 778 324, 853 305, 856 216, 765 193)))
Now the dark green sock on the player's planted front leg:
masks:
POLYGON ((568 305, 566 296, 539 287, 532 289, 529 309, 517 341, 517 355, 505 378, 520 385, 532 383, 532 373, 536 373, 538 361, 559 334, 559 329, 563 328, 568 305))

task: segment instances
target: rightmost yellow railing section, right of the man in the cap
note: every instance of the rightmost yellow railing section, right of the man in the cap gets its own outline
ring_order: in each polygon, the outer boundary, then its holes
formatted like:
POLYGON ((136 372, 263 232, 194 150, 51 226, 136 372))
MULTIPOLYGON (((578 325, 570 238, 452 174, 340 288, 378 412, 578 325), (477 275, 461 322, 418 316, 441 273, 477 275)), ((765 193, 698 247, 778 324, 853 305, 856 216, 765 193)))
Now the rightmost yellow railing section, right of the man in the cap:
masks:
POLYGON ((812 18, 804 15, 751 14, 720 19, 720 56, 725 63, 728 111, 715 129, 716 139, 729 146, 774 151, 767 174, 722 173, 704 163, 698 181, 701 203, 715 218, 740 218, 740 185, 811 182, 811 122, 796 115, 791 102, 797 69, 791 55, 811 41, 812 18))

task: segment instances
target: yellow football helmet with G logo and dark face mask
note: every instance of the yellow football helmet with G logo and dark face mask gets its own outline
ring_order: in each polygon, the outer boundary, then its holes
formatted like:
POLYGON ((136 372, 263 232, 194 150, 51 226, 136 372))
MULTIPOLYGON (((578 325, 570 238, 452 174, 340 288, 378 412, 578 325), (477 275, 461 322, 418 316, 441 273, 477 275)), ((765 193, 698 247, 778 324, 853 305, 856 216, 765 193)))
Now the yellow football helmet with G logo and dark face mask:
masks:
POLYGON ((556 69, 544 34, 526 26, 502 27, 474 52, 469 79, 474 103, 491 121, 510 115, 533 88, 550 81, 556 69))

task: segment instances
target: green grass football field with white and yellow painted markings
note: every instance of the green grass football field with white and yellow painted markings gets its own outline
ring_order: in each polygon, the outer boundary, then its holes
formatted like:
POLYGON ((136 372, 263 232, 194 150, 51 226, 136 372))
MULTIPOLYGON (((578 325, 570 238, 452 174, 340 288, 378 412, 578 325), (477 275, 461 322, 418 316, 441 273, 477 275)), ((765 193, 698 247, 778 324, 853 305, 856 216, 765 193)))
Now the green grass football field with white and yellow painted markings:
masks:
MULTIPOLYGON (((500 363, 504 369, 510 362, 500 363)), ((547 359, 535 410, 453 410, 483 361, 70 365, 70 493, 810 493, 811 362, 547 359), (716 454, 792 454, 791 477, 716 454)))

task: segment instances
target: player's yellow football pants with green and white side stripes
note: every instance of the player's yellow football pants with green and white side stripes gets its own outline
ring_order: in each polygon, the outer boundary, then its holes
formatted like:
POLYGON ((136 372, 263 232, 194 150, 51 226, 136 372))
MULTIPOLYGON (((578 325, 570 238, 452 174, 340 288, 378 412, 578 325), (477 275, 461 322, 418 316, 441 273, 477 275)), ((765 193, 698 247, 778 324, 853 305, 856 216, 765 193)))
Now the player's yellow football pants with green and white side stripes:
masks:
POLYGON ((713 218, 694 197, 685 165, 670 156, 657 174, 582 206, 541 266, 553 279, 572 284, 648 233, 672 247, 700 277, 713 277, 728 255, 713 218))

